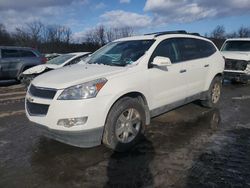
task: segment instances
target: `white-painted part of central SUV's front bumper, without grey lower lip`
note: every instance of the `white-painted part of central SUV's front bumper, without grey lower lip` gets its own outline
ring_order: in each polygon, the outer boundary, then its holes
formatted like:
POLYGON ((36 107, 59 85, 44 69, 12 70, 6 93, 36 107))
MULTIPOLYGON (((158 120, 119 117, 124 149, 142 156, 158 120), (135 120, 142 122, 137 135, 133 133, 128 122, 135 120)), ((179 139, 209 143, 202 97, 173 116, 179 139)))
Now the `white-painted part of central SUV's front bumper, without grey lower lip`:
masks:
POLYGON ((109 110, 110 96, 86 100, 56 100, 42 99, 29 94, 26 95, 25 109, 28 119, 36 124, 44 125, 58 131, 85 131, 104 126, 109 110), (32 98, 32 104, 47 105, 47 113, 43 115, 31 114, 27 108, 27 102, 32 98), (82 125, 64 127, 58 125, 58 120, 87 117, 87 122, 82 125))

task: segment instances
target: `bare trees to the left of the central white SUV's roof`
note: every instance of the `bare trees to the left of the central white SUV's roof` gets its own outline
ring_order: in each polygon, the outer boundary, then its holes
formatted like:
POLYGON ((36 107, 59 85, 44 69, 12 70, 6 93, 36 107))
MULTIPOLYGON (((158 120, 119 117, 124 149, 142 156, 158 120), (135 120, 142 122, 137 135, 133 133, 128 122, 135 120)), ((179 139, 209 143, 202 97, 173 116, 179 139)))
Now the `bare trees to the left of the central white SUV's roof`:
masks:
POLYGON ((9 32, 0 23, 0 46, 26 46, 42 53, 93 52, 115 39, 132 36, 130 27, 111 28, 103 25, 88 30, 82 43, 74 42, 72 31, 63 25, 45 25, 40 21, 25 24, 9 32))

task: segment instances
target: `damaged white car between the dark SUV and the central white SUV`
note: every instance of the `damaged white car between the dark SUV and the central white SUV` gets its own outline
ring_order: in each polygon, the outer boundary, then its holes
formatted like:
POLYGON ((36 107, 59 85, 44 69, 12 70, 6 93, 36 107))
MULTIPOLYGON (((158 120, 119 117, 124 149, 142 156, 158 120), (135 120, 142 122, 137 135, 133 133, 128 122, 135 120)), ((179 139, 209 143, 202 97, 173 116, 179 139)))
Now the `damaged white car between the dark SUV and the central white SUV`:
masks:
POLYGON ((90 52, 76 52, 60 55, 54 59, 49 60, 46 64, 37 65, 35 67, 25 70, 20 75, 20 80, 22 84, 28 87, 30 81, 33 80, 36 76, 44 72, 48 72, 50 70, 79 63, 83 58, 87 57, 89 54, 90 52))

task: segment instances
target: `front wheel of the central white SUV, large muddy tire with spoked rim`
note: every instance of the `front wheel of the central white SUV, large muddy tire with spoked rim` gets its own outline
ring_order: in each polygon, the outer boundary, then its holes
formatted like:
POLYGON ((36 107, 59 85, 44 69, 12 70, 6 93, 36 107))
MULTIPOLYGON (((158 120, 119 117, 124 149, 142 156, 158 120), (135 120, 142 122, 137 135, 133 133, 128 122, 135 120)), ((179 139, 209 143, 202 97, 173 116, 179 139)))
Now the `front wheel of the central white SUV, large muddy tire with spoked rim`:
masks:
POLYGON ((103 144, 118 152, 134 146, 145 130, 146 115, 137 99, 125 97, 111 108, 103 133, 103 144))

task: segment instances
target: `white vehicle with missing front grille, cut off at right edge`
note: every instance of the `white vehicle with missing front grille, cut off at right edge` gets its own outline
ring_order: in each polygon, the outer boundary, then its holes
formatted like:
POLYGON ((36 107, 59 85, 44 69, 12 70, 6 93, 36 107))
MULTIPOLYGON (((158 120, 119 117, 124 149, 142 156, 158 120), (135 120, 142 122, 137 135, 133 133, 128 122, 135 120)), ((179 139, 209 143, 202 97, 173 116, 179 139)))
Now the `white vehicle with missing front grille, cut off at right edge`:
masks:
POLYGON ((221 52, 226 61, 224 78, 247 83, 250 79, 250 38, 228 39, 221 52))

